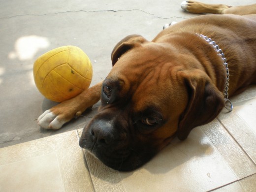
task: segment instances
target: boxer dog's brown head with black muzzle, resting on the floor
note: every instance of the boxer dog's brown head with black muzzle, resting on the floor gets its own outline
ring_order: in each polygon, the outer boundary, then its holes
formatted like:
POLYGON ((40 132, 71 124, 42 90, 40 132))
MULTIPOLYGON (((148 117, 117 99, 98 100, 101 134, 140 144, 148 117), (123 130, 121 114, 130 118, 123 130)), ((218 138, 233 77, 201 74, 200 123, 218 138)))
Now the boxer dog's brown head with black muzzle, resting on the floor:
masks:
POLYGON ((150 160, 173 136, 187 138, 192 128, 212 121, 224 106, 223 94, 196 60, 182 58, 168 43, 130 35, 112 55, 101 107, 84 128, 80 146, 121 171, 150 160))

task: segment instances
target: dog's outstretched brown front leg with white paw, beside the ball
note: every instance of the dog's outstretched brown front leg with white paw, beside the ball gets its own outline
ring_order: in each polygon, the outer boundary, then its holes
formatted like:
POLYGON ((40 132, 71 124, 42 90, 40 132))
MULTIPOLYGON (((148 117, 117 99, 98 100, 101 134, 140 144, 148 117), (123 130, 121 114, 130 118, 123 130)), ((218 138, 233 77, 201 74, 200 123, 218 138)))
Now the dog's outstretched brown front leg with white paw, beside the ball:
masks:
POLYGON ((45 111, 37 119, 38 125, 46 129, 59 129, 64 123, 80 116, 100 99, 102 82, 45 111))

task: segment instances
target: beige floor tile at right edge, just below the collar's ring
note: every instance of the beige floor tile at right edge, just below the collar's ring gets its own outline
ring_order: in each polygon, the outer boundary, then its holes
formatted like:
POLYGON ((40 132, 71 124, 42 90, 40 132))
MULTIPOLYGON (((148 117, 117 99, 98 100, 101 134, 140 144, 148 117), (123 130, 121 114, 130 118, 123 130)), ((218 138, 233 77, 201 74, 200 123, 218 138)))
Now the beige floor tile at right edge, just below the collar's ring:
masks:
POLYGON ((218 119, 256 163, 256 98, 237 102, 218 119))

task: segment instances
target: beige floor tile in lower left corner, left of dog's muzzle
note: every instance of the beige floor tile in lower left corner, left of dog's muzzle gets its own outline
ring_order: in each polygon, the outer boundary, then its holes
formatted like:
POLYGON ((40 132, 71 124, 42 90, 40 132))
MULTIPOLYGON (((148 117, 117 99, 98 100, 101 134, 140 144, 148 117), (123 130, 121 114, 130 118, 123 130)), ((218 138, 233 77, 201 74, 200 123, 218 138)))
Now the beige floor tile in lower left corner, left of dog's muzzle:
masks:
POLYGON ((93 191, 77 135, 74 130, 1 148, 0 191, 93 191))

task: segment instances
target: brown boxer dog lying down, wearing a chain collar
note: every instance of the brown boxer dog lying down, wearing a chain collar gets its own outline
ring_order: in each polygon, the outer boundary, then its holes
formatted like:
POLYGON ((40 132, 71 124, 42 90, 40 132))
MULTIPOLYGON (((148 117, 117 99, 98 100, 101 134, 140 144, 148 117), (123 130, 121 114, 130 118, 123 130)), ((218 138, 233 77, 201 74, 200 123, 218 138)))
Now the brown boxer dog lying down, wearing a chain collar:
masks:
POLYGON ((115 169, 141 166, 173 136, 186 139, 192 128, 212 121, 225 105, 224 61, 198 34, 223 50, 229 96, 256 84, 256 15, 198 16, 163 30, 151 42, 140 35, 120 41, 107 78, 46 111, 39 125, 60 128, 101 98, 80 146, 115 169))

